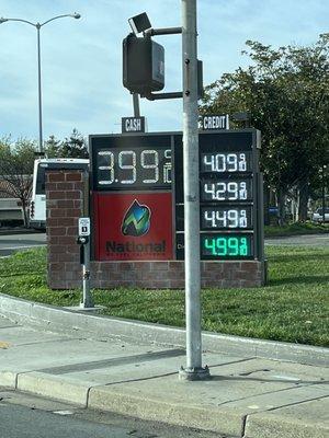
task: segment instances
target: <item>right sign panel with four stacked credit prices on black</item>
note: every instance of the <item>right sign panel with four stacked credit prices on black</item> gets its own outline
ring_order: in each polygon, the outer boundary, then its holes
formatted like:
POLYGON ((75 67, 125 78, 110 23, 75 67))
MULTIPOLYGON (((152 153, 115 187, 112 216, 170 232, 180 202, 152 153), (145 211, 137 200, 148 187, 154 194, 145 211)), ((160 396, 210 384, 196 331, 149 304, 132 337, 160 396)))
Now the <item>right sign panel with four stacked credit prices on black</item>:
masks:
MULTIPOLYGON (((200 148, 201 260, 253 260, 262 256, 259 136, 254 129, 203 131, 200 148)), ((180 162, 178 147, 175 162, 180 162)), ((182 172, 181 172, 182 173, 182 172)), ((177 241, 183 257, 183 196, 175 168, 177 241)))

